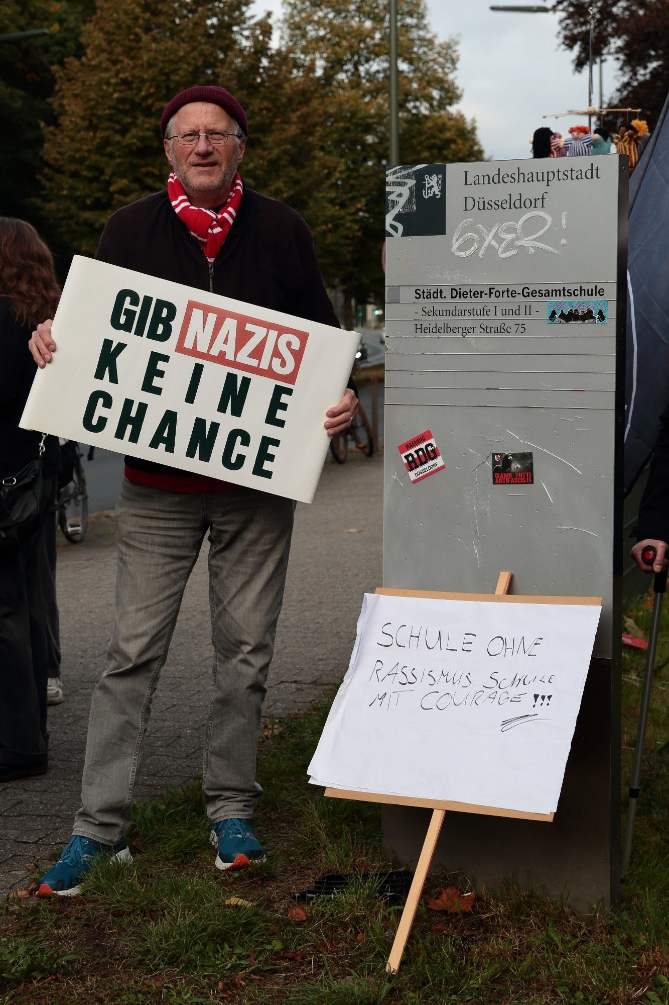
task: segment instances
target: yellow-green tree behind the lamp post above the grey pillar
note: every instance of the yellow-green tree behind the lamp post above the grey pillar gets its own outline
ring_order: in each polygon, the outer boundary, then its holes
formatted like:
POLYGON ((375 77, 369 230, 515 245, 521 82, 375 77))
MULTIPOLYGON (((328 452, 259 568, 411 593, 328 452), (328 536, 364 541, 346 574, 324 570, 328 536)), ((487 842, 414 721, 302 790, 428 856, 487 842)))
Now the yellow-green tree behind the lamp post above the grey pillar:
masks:
MULTIPOLYGON (((452 109, 455 43, 435 37, 424 0, 399 8, 401 161, 480 160, 474 124, 452 109)), ((350 327, 353 300, 383 297, 389 30, 377 0, 285 0, 282 43, 304 100, 282 183, 311 226, 327 283, 345 291, 350 327)))

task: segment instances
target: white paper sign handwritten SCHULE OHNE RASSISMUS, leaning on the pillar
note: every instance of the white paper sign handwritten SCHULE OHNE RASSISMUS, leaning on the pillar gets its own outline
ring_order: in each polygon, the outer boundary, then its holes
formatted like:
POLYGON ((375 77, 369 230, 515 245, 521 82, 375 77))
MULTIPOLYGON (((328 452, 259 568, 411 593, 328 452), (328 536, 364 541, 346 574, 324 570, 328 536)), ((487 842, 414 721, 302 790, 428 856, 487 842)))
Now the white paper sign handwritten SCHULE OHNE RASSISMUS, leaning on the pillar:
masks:
POLYGON ((600 611, 366 594, 310 781, 554 812, 600 611))

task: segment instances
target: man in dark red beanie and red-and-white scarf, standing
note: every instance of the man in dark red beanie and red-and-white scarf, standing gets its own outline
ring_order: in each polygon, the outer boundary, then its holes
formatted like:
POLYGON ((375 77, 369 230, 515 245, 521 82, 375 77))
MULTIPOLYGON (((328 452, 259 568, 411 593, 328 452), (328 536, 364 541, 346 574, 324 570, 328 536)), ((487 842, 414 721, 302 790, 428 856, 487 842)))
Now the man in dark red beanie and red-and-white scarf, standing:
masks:
MULTIPOLYGON (((161 131, 172 168, 167 191, 115 213, 95 257, 339 327, 304 221, 287 206, 243 186, 237 168, 248 125, 232 94, 214 86, 180 92, 165 108, 161 131)), ((158 331, 163 324, 160 311, 157 315, 156 305, 145 309, 144 299, 149 298, 133 292, 123 291, 112 324, 127 332, 142 327, 149 336, 152 326, 158 331)), ((217 319, 211 308, 193 305, 179 351, 206 358, 215 338, 217 352, 225 352, 229 323, 229 318, 217 319)), ((272 337, 263 328, 250 333, 253 340, 253 345, 246 342, 235 349, 235 366, 257 371, 259 363, 276 379, 283 375, 289 380, 286 375, 298 363, 299 333, 272 337)), ((50 322, 38 326, 30 350, 39 367, 51 362, 56 346, 50 322)), ((109 359, 108 367, 114 362, 109 359)), ((327 433, 346 429, 357 408, 350 382, 342 400, 326 413, 327 433)), ((136 420, 135 415, 128 417, 129 422, 136 420)), ((130 858, 125 834, 151 699, 207 532, 215 656, 203 792, 211 842, 220 869, 264 858, 248 821, 261 791, 255 782, 256 739, 293 511, 289 498, 126 458, 116 515, 115 624, 107 665, 92 696, 82 806, 73 836, 40 880, 38 895, 75 894, 99 855, 130 858)))

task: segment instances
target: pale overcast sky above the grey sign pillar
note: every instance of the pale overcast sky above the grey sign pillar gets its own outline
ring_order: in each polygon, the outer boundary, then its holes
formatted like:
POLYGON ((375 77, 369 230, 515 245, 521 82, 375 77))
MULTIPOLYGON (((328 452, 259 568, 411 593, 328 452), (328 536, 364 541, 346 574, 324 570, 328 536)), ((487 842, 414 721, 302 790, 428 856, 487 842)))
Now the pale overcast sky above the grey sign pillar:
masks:
MULTIPOLYGON (((577 76, 571 53, 558 48, 556 16, 499 13, 489 9, 490 2, 427 0, 435 34, 439 38, 459 36, 457 79, 463 91, 460 108, 467 118, 476 119, 486 156, 496 160, 528 157, 528 140, 537 127, 550 126, 567 135, 570 126, 588 122, 585 118, 545 122, 541 118, 570 109, 585 109, 588 73, 577 76)), ((258 13, 270 10, 275 18, 280 7, 280 0, 255 2, 258 13)), ((605 100, 613 89, 613 63, 605 63, 605 100)), ((596 72, 594 104, 598 100, 596 72)))

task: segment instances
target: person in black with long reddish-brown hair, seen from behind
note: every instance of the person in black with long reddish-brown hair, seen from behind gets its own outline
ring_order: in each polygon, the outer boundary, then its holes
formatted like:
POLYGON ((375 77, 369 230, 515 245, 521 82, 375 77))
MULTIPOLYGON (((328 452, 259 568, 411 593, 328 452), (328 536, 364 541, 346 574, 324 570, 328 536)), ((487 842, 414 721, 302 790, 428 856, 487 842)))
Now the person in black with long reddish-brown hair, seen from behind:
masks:
MULTIPOLYGON (((0 783, 47 769, 47 641, 39 555, 55 497, 58 441, 19 428, 36 372, 30 332, 60 295, 53 259, 29 223, 0 217, 0 482, 11 486, 40 456, 32 519, 0 531, 0 783)), ((54 602, 55 602, 55 598, 54 602)))

